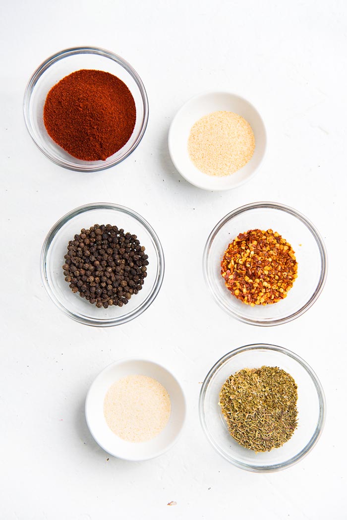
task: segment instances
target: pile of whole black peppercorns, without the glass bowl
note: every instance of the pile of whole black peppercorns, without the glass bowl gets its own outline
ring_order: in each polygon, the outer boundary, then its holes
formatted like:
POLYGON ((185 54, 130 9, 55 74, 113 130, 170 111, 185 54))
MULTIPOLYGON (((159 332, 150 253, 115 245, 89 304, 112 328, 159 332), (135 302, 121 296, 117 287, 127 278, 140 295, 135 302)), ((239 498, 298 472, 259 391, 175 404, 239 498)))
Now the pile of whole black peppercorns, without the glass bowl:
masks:
POLYGON ((147 277, 148 255, 136 235, 110 224, 81 229, 62 266, 72 292, 96 307, 126 305, 147 277))

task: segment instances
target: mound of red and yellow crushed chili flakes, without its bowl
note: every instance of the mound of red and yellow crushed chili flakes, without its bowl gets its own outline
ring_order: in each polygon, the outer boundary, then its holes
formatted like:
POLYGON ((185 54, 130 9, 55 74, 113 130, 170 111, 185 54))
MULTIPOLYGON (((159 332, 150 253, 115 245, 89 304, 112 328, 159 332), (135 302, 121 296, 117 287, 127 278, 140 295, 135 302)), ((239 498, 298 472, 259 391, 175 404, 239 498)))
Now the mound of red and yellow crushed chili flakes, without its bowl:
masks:
POLYGON ((221 268, 227 289, 252 307, 283 300, 298 276, 291 245, 272 229, 240 233, 228 245, 221 268))

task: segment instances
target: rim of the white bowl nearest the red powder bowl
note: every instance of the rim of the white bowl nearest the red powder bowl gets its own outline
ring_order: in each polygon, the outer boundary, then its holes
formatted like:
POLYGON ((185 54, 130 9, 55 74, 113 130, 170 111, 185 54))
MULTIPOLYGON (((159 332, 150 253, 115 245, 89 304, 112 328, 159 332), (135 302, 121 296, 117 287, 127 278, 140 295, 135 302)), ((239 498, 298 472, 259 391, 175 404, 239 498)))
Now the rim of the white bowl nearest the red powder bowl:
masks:
MULTIPOLYGON (((232 190, 234 188, 239 188, 240 186, 242 186, 243 184, 246 184, 248 183, 248 181, 250 181, 261 169, 262 165, 263 165, 263 162, 264 162, 264 159, 265 159, 265 156, 266 156, 266 151, 267 151, 267 133, 266 133, 266 126, 265 126, 265 123, 264 123, 264 120, 260 114, 260 112, 255 108, 255 106, 253 105, 253 103, 251 101, 249 101, 248 99, 246 99, 245 97, 243 96, 240 96, 239 94, 235 93, 235 92, 231 92, 230 90, 225 90, 225 89, 217 89, 217 90, 214 90, 214 89, 210 89, 210 90, 205 90, 204 92, 200 92, 199 94, 196 94, 195 96, 192 96, 191 98, 189 98, 185 103, 183 103, 183 105, 177 110, 177 112, 175 113, 174 115, 174 118, 170 124, 170 128, 169 128, 169 133, 168 133, 168 149, 169 149, 169 154, 170 154, 170 158, 171 158, 171 161, 174 165, 174 167, 176 168, 177 172, 182 175, 182 177, 189 183, 191 184, 192 186, 195 186, 196 188, 200 188, 200 189, 203 189, 203 190, 206 190, 206 191, 228 191, 228 190, 232 190), (254 112, 256 114, 258 114, 259 116, 259 119, 262 123, 262 126, 263 126, 263 131, 264 131, 264 152, 262 154, 262 157, 260 159, 260 162, 258 164, 258 166, 256 166, 256 168, 254 169, 254 171, 250 174, 250 176, 246 179, 243 179, 243 180, 240 180, 238 183, 236 183, 234 186, 226 186, 226 187, 222 187, 222 188, 207 188, 203 185, 203 183, 198 183, 198 182, 194 182, 192 181, 190 178, 188 178, 185 173, 181 170, 181 168, 179 168, 177 166, 177 163, 175 161, 175 154, 172 153, 172 128, 175 124, 175 122, 177 121, 177 119, 179 118, 179 116, 182 114, 183 110, 185 108, 187 108, 187 106, 190 105, 190 103, 192 101, 195 101, 196 99, 200 98, 200 97, 204 97, 204 96, 208 96, 208 95, 213 95, 213 94, 216 94, 216 95, 228 95, 228 96, 234 96, 235 98, 238 98, 239 100, 243 101, 243 102, 246 102, 248 103, 248 105, 250 105, 250 107, 254 110, 254 112)), ((201 172, 201 175, 205 175, 203 172, 201 172)), ((230 177, 232 177, 232 175, 230 175, 230 177)), ((203 177, 202 177, 203 178, 203 177)), ((210 176, 209 176, 210 178, 210 176)), ((217 177, 217 178, 220 178, 220 177, 217 177)))

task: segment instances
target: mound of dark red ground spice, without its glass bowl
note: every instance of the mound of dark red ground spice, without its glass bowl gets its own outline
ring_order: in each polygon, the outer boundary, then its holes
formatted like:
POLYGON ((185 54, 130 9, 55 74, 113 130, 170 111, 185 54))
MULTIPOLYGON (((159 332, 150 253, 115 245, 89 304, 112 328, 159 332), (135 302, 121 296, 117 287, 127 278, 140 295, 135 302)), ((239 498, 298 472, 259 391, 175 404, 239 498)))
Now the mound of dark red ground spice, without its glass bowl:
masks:
POLYGON ((105 161, 130 139, 135 101, 117 76, 78 70, 49 90, 43 121, 49 136, 73 157, 105 161))

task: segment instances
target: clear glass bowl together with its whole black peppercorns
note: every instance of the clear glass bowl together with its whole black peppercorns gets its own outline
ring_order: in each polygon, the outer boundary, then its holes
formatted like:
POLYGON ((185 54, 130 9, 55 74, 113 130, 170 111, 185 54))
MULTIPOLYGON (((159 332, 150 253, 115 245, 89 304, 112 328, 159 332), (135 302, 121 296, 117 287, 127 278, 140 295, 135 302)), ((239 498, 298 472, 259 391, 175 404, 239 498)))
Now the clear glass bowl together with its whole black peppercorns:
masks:
POLYGON ((87 204, 49 231, 41 274, 50 298, 70 318, 110 327, 136 318, 155 300, 164 255, 156 232, 138 213, 87 204))

